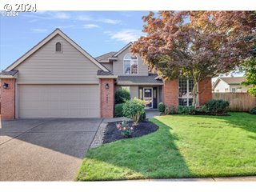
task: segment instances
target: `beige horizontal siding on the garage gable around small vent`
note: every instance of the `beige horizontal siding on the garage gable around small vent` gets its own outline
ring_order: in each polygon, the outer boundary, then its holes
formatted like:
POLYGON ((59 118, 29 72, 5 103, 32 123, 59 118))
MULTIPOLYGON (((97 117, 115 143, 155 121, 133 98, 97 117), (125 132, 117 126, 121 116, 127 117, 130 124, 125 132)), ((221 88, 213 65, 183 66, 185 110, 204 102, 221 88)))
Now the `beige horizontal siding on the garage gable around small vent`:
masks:
POLYGON ((19 70, 18 83, 98 84, 98 66, 60 35, 52 38, 15 69, 19 70), (62 53, 55 53, 56 42, 62 43, 62 53))

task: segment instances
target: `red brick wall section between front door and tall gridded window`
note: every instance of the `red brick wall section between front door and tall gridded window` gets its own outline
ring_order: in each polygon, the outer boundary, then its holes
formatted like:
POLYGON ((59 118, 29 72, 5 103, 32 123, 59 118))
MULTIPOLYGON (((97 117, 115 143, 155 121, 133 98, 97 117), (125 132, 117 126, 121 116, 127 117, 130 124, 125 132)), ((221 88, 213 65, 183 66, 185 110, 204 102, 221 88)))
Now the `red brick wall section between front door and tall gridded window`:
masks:
POLYGON ((178 106, 178 79, 164 81, 162 101, 166 106, 178 106))

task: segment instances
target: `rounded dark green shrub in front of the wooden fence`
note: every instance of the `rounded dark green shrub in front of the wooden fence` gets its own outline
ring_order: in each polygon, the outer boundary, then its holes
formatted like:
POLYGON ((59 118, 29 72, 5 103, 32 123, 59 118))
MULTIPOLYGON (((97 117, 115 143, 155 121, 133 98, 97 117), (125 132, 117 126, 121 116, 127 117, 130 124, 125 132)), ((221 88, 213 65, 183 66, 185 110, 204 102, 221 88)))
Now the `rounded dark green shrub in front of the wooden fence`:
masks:
POLYGON ((212 99, 206 102, 206 110, 210 114, 226 114, 226 110, 229 106, 230 102, 222 99, 212 99))

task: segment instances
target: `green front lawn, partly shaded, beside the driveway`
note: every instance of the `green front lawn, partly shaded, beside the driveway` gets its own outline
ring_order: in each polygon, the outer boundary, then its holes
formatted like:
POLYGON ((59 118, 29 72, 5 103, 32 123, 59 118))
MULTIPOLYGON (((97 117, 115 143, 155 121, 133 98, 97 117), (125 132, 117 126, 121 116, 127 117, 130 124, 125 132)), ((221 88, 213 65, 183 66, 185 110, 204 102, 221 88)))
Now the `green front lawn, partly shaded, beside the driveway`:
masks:
POLYGON ((89 150, 77 180, 256 175, 256 116, 168 115, 158 131, 89 150))

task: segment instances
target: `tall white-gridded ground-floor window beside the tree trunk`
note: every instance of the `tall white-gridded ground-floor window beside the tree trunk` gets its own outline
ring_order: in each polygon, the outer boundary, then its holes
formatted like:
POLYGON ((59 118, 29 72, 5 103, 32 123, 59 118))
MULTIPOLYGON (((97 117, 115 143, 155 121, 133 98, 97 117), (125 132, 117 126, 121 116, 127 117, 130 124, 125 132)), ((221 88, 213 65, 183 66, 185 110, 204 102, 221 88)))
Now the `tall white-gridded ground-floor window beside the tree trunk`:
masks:
POLYGON ((193 80, 186 78, 178 79, 178 105, 179 106, 192 106, 193 102, 193 80))

